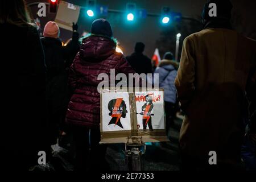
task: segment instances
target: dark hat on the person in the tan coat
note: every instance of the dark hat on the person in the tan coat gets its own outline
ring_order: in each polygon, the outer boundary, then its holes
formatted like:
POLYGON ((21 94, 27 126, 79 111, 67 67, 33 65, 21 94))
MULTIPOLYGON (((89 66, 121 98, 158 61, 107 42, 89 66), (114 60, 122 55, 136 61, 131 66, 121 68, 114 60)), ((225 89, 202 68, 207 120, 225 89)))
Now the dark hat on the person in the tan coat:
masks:
POLYGON ((232 11, 233 5, 230 2, 230 0, 208 0, 207 3, 205 3, 203 12, 202 12, 202 18, 205 20, 211 20, 211 19, 231 19, 231 11, 232 11), (209 11, 212 9, 209 7, 210 3, 215 3, 217 6, 217 17, 210 17, 209 11))

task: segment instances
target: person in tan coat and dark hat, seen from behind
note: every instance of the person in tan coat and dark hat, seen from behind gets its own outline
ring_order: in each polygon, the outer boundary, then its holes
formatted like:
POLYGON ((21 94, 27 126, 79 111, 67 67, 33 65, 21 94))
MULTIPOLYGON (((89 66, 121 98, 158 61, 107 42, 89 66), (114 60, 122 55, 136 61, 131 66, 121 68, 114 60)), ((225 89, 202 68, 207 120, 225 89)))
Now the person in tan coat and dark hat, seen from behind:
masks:
POLYGON ((185 112, 180 130, 184 170, 235 168, 241 162, 245 93, 255 81, 256 42, 232 30, 231 10, 229 1, 208 1, 204 30, 183 43, 175 86, 185 112), (211 2, 217 17, 208 14, 211 2), (210 151, 217 153, 217 166, 209 165, 210 151))

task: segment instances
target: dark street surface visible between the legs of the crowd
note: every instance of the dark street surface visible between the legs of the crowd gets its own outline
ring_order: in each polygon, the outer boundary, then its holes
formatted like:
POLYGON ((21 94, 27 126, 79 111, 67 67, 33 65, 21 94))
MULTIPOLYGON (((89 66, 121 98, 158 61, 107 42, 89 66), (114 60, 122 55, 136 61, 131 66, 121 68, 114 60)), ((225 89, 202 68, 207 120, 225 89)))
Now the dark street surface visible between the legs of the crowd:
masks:
MULTIPOLYGON (((179 148, 178 137, 181 119, 175 120, 175 125, 169 131, 170 142, 146 143, 144 154, 144 169, 146 171, 177 171, 179 170, 179 148)), ((109 144, 106 152, 106 161, 111 171, 125 169, 125 155, 123 154, 125 144, 109 144)), ((53 146, 56 170, 73 170, 72 152, 57 145, 53 146)))

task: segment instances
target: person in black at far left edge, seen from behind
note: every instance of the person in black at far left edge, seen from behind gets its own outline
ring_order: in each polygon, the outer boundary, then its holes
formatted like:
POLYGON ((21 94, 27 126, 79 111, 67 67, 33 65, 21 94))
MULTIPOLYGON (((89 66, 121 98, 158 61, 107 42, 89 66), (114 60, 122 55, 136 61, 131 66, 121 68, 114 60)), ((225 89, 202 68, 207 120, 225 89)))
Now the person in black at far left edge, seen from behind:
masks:
POLYGON ((23 0, 0 1, 1 166, 23 171, 48 159, 46 65, 23 0))

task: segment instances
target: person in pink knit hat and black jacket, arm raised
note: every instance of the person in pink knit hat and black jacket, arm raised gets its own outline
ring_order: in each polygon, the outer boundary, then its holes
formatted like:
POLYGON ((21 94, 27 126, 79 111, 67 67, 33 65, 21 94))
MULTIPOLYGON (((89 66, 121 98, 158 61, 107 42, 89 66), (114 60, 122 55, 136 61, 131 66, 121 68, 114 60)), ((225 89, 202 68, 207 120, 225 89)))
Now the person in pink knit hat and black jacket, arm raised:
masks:
POLYGON ((42 44, 47 66, 47 107, 51 126, 51 144, 57 142, 59 130, 64 129, 65 113, 69 101, 67 61, 76 55, 79 47, 78 26, 73 23, 73 37, 67 46, 62 46, 60 29, 55 22, 44 27, 42 44))

